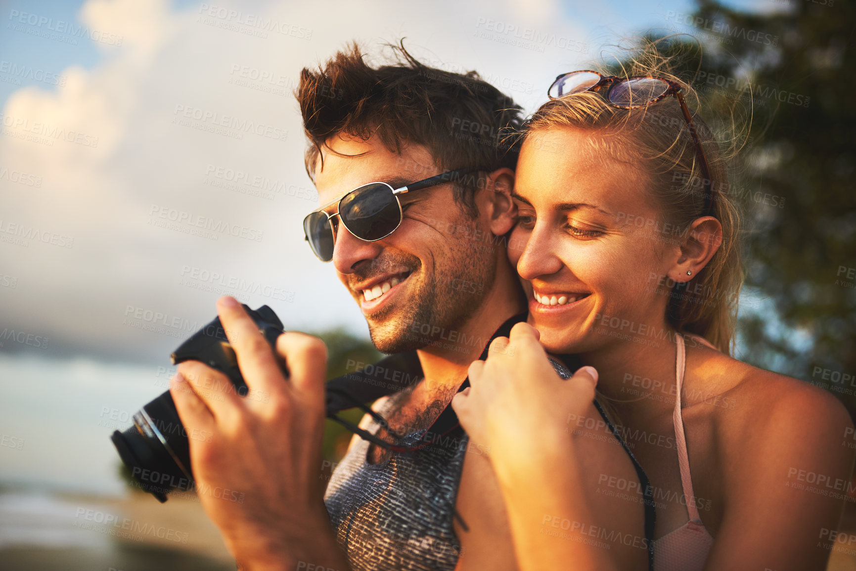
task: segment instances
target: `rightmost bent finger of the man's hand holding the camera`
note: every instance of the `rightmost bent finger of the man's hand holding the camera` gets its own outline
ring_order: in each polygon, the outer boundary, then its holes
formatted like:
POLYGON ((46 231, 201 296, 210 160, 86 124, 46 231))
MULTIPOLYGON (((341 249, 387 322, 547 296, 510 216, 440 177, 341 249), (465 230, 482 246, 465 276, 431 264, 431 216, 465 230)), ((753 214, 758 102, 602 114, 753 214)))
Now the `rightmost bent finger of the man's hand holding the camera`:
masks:
POLYGON ((316 406, 324 406, 327 346, 316 336, 286 331, 276 339, 276 353, 288 366, 288 381, 295 391, 316 406))

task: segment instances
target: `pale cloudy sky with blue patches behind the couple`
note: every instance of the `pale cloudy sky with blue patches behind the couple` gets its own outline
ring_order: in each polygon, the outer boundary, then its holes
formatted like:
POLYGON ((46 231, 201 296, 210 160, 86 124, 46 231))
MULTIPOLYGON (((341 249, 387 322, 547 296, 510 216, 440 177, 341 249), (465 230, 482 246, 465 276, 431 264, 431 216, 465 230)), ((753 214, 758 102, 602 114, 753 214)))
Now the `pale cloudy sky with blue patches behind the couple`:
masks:
POLYGON ((288 328, 365 334, 332 267, 302 240, 316 194, 291 95, 300 68, 351 39, 380 57, 384 41, 406 37, 425 61, 477 69, 533 110, 557 73, 640 30, 684 30, 679 14, 692 9, 684 0, 0 5, 0 330, 15 330, 0 351, 141 362, 163 360, 210 320, 219 294, 270 304, 288 328), (520 45, 526 29, 544 40, 520 45))

